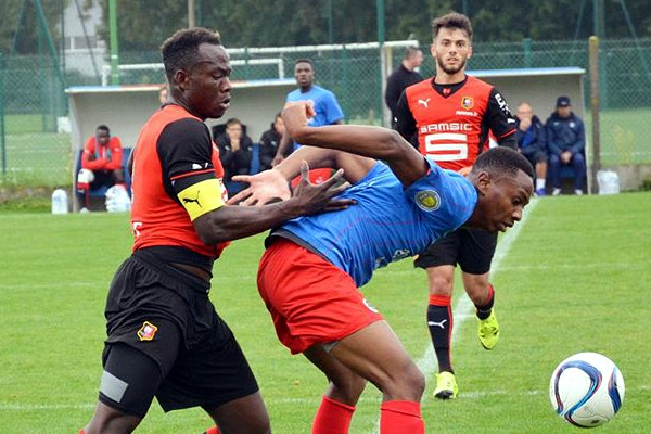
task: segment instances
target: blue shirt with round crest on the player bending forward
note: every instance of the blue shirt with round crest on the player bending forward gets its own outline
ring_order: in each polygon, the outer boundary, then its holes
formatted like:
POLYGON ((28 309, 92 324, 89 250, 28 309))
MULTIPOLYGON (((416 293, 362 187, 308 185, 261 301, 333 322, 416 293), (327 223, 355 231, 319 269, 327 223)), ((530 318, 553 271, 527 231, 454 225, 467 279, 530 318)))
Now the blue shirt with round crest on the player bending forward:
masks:
POLYGON ((384 163, 340 195, 347 209, 298 217, 280 228, 347 272, 358 286, 376 268, 413 256, 465 222, 477 203, 474 186, 426 159, 430 171, 405 189, 384 163))

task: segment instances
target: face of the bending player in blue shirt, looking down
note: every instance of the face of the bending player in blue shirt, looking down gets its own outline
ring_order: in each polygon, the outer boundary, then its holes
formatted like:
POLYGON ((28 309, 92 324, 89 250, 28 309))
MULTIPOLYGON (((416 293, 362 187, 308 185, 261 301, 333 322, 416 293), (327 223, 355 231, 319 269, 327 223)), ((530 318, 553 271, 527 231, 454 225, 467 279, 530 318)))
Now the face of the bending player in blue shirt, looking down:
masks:
POLYGON ((534 181, 522 170, 513 177, 501 176, 480 182, 478 226, 489 232, 503 232, 522 218, 522 212, 534 194, 534 181))

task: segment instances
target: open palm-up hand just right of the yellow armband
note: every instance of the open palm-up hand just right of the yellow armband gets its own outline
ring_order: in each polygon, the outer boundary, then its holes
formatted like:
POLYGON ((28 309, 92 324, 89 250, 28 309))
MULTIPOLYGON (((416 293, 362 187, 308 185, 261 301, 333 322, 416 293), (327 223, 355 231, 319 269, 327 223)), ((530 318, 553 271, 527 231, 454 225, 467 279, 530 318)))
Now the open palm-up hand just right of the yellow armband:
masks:
POLYGON ((276 200, 292 196, 286 179, 278 170, 256 175, 237 175, 233 181, 247 182, 248 187, 228 200, 229 205, 263 206, 276 200))

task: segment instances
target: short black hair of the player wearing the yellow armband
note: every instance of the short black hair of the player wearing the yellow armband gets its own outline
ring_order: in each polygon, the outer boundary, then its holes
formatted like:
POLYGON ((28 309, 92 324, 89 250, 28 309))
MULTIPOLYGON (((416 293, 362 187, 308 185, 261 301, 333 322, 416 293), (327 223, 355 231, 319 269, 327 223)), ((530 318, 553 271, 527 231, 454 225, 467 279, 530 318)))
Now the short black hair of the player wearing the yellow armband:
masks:
POLYGON ((221 36, 203 27, 186 28, 176 31, 161 46, 165 75, 168 82, 174 81, 174 75, 179 69, 190 69, 199 58, 199 46, 212 43, 221 46, 221 36))

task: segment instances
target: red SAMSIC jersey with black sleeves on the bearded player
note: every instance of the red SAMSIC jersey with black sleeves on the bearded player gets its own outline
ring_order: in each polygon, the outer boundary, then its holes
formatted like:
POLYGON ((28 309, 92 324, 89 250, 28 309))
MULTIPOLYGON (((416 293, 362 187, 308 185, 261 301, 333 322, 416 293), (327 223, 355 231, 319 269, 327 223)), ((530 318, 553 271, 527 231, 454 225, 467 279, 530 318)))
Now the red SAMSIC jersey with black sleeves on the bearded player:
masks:
POLYGON ((435 86, 434 79, 410 86, 398 103, 396 129, 405 138, 418 132, 423 155, 446 169, 472 166, 488 148, 489 131, 515 148, 515 119, 495 87, 471 76, 441 91, 435 86))

